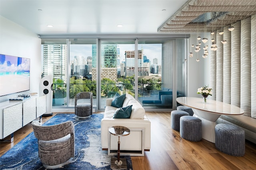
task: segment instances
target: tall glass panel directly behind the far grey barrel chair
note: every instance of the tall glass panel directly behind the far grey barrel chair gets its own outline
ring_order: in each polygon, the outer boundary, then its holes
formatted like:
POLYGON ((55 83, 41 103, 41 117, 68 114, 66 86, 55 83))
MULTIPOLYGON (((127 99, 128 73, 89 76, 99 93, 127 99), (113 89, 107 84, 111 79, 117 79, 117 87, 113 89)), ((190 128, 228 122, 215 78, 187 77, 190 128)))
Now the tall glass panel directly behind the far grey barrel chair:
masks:
POLYGON ((93 93, 93 106, 97 106, 97 45, 96 39, 69 39, 69 106, 79 92, 93 93))

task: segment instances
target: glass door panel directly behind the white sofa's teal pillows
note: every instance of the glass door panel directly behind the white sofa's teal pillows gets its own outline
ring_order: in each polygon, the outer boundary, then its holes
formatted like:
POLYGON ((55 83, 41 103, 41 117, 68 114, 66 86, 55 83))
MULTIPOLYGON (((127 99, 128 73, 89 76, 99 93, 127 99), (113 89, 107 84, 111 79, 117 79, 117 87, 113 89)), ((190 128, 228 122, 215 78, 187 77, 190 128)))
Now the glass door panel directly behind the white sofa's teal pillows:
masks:
POLYGON ((119 94, 134 96, 134 51, 135 39, 100 40, 100 107, 104 109, 106 99, 119 94), (133 55, 132 55, 133 54, 133 55), (127 55, 132 58, 127 59, 127 55), (128 70, 133 69, 133 72, 128 70))

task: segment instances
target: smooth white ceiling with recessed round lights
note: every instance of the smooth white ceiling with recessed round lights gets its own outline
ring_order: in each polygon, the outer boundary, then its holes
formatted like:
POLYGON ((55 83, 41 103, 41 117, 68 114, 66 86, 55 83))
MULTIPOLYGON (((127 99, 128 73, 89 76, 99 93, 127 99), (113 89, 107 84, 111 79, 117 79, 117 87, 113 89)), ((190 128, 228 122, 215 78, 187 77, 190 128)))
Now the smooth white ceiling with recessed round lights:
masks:
POLYGON ((186 2, 0 0, 0 15, 38 35, 156 34, 158 27, 186 2), (117 27, 118 24, 123 27, 117 27))

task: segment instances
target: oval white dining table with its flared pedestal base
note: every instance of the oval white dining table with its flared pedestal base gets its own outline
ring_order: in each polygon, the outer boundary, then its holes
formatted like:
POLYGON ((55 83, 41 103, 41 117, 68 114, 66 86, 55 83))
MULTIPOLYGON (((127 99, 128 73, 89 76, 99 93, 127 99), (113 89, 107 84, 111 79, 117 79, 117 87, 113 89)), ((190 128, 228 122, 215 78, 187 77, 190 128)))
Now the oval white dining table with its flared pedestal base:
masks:
POLYGON ((207 103, 204 103, 203 98, 179 97, 176 101, 192 108, 193 116, 202 120, 202 138, 212 143, 215 143, 216 120, 221 115, 244 114, 244 110, 240 107, 216 100, 207 99, 207 103))

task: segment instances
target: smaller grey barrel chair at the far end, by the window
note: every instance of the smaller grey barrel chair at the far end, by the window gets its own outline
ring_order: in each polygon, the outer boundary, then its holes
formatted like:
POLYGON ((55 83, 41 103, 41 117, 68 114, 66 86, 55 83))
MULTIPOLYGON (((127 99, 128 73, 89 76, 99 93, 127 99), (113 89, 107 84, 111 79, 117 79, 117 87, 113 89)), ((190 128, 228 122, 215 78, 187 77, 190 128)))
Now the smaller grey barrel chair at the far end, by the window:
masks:
POLYGON ((92 115, 92 92, 80 92, 75 96, 75 114, 84 119, 92 115), (78 102, 78 100, 89 99, 89 102, 78 102))

